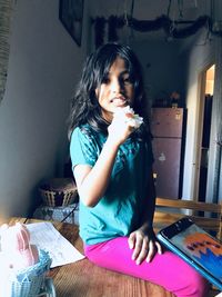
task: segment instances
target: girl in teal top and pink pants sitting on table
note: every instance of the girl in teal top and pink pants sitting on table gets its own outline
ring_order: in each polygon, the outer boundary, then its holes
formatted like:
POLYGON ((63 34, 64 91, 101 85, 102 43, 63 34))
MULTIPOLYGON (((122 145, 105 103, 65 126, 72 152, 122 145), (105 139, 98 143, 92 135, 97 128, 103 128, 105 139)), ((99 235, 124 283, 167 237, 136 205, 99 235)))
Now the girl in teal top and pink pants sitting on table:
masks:
POLYGON ((117 43, 99 48, 83 68, 69 130, 84 253, 95 265, 175 296, 205 297, 204 279, 163 253, 153 231, 153 157, 144 111, 141 67, 132 50, 117 43), (141 126, 134 112, 143 118, 141 126))

